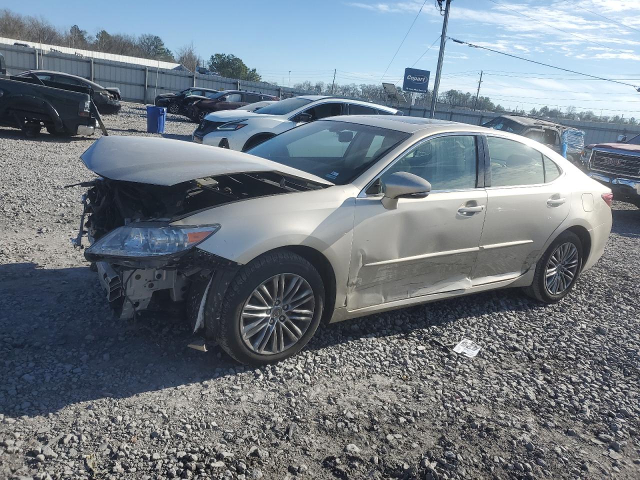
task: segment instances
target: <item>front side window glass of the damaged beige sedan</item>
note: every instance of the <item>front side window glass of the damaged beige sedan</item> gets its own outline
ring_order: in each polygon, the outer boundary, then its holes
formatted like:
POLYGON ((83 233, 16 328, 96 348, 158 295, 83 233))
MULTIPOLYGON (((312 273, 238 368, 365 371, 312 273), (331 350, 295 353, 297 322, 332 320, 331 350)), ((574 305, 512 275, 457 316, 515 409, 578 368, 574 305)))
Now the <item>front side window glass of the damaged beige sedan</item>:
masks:
POLYGON ((382 174, 383 188, 385 179, 395 172, 418 175, 431 184, 432 190, 476 188, 476 136, 451 135, 423 141, 382 174))

